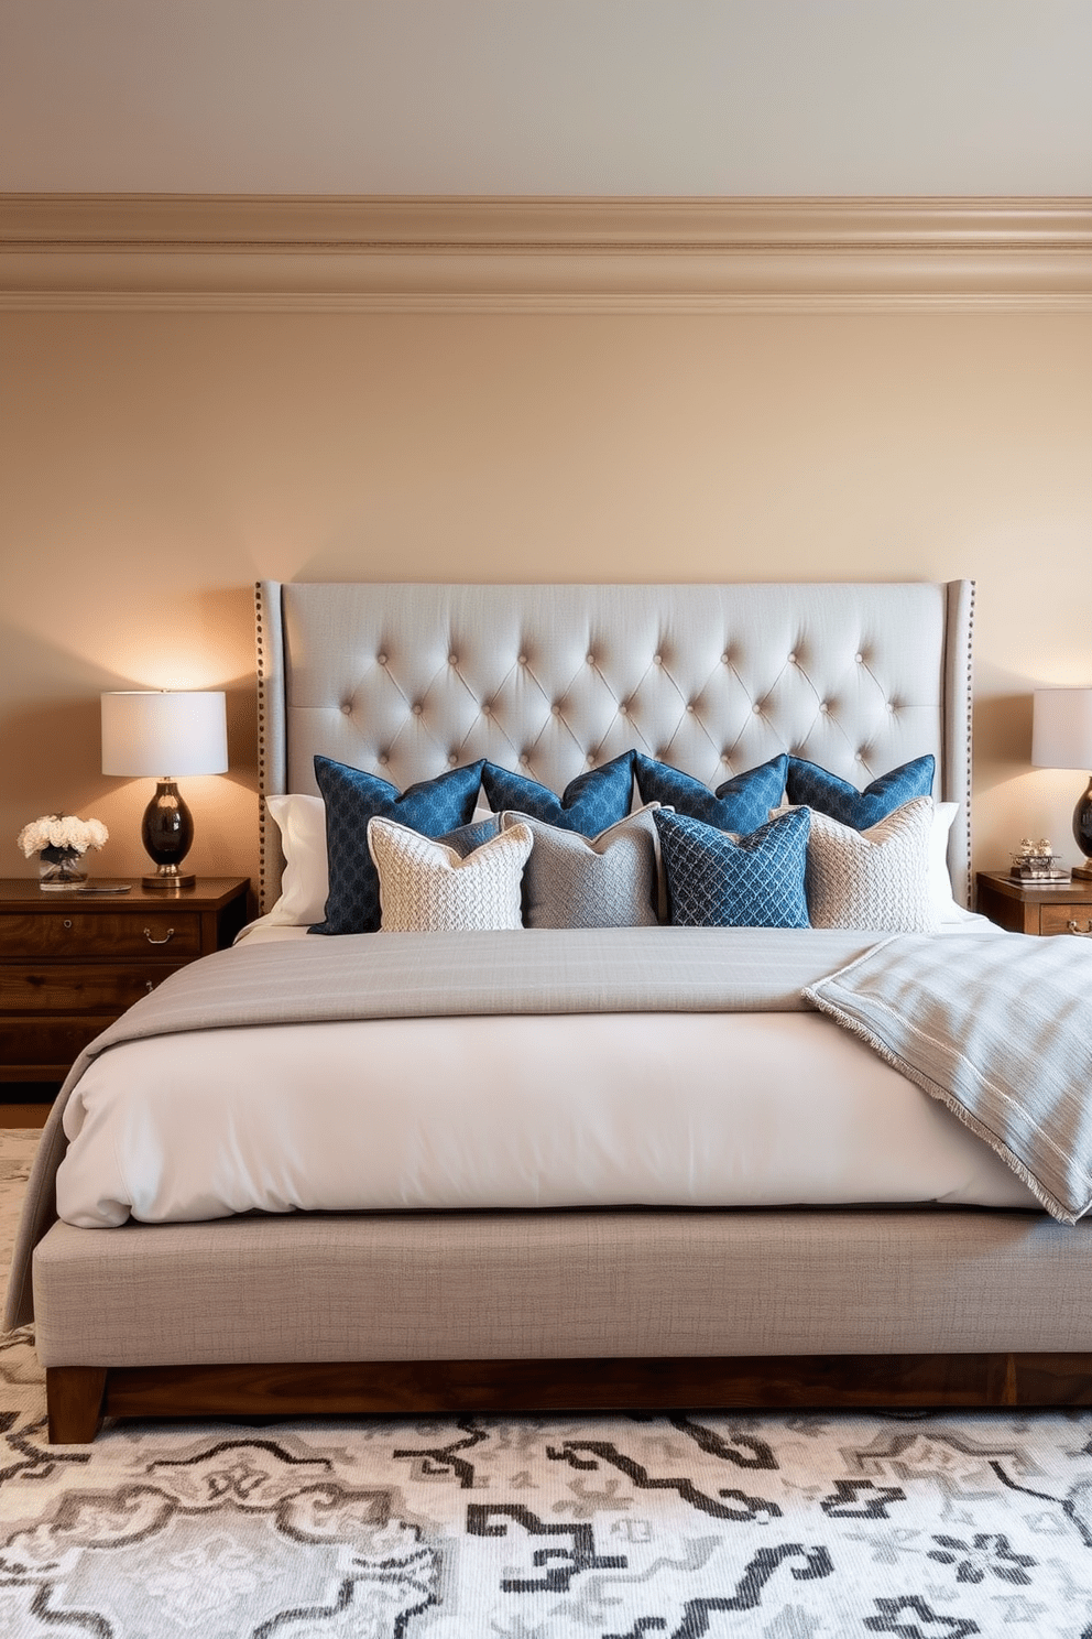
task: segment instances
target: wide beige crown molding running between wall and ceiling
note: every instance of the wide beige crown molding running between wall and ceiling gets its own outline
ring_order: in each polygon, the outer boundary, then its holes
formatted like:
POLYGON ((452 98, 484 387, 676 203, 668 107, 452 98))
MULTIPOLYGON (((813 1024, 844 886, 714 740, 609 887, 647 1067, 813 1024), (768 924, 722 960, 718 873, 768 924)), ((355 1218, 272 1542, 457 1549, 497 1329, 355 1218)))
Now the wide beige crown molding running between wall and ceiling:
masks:
POLYGON ((0 306, 1074 311, 1092 198, 7 193, 0 306))

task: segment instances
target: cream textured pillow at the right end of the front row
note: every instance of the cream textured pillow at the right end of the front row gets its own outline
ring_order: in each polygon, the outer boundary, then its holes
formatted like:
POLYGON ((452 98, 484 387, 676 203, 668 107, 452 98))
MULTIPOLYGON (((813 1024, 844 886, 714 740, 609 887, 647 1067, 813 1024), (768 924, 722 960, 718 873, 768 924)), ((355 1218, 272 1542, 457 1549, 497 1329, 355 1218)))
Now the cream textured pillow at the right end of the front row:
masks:
POLYGON ((930 883, 933 800, 917 797, 855 831, 812 808, 807 911, 812 928, 938 933, 930 883))

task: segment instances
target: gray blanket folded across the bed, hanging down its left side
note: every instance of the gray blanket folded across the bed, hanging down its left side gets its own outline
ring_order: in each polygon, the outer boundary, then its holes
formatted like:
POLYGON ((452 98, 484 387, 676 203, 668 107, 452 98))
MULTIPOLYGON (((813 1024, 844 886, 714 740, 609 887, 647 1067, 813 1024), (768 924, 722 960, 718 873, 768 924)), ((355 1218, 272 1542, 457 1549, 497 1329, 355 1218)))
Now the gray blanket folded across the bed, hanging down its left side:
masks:
POLYGON ((57 1216, 69 1095, 92 1059, 128 1041, 437 1015, 809 1011, 805 987, 873 942, 861 931, 796 928, 539 928, 244 941, 206 956, 129 1008, 74 1064, 26 1188, 5 1324, 31 1318, 29 1260, 57 1216))

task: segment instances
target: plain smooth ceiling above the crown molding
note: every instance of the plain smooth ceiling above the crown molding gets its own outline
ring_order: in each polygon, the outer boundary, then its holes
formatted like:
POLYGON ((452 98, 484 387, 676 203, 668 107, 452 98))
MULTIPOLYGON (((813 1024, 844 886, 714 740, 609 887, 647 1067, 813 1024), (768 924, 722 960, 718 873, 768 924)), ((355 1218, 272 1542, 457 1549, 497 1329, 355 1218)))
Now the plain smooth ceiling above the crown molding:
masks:
POLYGON ((1092 3, 0 0, 0 190, 1092 195, 1092 3))

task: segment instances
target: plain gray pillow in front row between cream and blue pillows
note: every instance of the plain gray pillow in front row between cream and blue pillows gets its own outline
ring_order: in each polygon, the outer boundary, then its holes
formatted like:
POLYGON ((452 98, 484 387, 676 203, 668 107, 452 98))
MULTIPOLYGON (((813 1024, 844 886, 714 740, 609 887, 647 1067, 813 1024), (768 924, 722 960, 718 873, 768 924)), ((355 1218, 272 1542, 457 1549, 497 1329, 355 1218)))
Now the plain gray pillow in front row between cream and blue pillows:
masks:
POLYGON ((524 870, 527 928, 645 928, 658 921, 657 829, 653 810, 639 808, 599 836, 580 836, 503 813, 501 834, 527 826, 535 839, 524 870))

